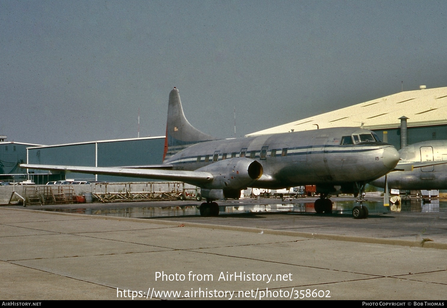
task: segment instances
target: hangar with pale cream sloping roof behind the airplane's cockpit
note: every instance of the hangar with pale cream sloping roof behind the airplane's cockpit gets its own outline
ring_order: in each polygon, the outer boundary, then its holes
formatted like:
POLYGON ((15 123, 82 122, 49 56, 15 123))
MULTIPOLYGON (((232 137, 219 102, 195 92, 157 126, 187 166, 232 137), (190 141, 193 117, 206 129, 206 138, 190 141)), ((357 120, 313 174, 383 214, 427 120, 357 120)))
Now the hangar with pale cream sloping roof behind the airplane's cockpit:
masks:
POLYGON ((308 131, 329 127, 360 127, 375 131, 384 142, 397 149, 400 144, 399 118, 406 117, 408 144, 447 139, 447 87, 405 91, 319 114, 246 135, 266 135, 308 131))

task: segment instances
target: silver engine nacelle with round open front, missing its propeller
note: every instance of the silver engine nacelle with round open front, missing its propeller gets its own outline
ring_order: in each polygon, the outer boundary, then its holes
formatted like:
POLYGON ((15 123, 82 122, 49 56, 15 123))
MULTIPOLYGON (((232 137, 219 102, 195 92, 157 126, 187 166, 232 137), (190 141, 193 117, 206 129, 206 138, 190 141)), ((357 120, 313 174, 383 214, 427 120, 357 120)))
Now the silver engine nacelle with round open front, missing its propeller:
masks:
POLYGON ((213 181, 202 188, 240 190, 261 177, 262 165, 247 157, 235 157, 220 160, 196 171, 206 171, 213 175, 213 181))

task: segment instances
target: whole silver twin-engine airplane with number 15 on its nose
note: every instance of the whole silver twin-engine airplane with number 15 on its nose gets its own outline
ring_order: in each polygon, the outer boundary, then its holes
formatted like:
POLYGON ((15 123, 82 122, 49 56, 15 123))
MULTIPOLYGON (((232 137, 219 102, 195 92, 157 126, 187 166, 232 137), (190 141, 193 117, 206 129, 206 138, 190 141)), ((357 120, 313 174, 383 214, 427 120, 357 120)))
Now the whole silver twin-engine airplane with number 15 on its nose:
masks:
MULTIPOLYGON (((185 117, 178 89, 169 93, 162 165, 81 167, 22 164, 21 168, 119 175, 184 181, 201 188, 207 202, 200 215, 216 216, 222 198, 239 198, 247 187, 279 189, 316 185, 317 213, 332 213, 327 198, 336 191, 363 198, 365 185, 393 170, 400 156, 374 132, 360 127, 336 127, 217 139, 185 117)), ((366 218, 367 207, 354 207, 354 218, 366 218)))

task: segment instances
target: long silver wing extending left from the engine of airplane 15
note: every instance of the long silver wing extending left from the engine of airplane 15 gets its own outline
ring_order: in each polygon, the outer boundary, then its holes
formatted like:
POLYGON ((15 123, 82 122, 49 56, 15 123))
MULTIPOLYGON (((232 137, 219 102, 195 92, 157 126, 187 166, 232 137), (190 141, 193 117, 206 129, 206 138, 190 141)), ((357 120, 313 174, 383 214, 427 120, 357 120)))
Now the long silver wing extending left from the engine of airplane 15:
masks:
POLYGON ((213 181, 213 175, 205 171, 163 170, 143 168, 122 167, 80 167, 80 166, 58 166, 58 165, 28 165, 21 164, 20 168, 70 171, 88 174, 114 175, 121 177, 141 177, 148 179, 184 181, 190 184, 207 183, 213 181))

